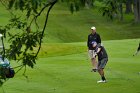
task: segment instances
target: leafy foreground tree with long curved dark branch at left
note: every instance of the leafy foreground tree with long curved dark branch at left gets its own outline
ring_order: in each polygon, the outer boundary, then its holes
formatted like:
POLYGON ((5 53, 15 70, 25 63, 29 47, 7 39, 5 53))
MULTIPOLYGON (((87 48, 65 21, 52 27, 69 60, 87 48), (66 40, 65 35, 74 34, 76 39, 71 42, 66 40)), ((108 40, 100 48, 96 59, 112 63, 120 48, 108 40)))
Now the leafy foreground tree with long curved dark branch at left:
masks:
MULTIPOLYGON (((42 39, 46 29, 49 13, 52 7, 58 0, 0 0, 1 3, 8 9, 12 18, 5 26, 0 26, 0 33, 7 38, 10 37, 10 46, 8 49, 4 49, 2 52, 3 58, 7 57, 13 59, 16 62, 20 62, 19 70, 23 67, 29 66, 31 68, 36 64, 36 59, 41 48, 42 39), (46 11, 47 9, 47 11, 46 11), (19 10, 26 13, 26 17, 23 19, 21 16, 16 15, 12 10, 19 10), (38 18, 46 12, 46 19, 43 28, 38 25, 38 18), (32 25, 36 26, 33 30, 32 25), (18 30, 15 34, 11 30, 18 30), (37 50, 36 50, 37 49, 37 50)), ((18 70, 18 71, 19 71, 18 70)), ((18 72, 17 71, 17 72, 18 72)), ((2 85, 6 78, 0 78, 0 84, 2 85)))

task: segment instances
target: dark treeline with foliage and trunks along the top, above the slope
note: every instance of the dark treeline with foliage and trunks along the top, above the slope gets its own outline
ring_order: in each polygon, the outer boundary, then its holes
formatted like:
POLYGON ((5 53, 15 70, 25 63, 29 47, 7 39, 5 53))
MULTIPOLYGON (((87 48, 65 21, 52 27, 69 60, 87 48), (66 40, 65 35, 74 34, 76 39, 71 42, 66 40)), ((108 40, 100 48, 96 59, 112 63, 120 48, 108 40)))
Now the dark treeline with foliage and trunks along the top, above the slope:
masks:
POLYGON ((140 22, 140 0, 61 0, 70 4, 70 10, 78 11, 80 7, 93 8, 95 1, 102 3, 99 9, 103 16, 123 21, 123 14, 133 14, 134 22, 140 22))

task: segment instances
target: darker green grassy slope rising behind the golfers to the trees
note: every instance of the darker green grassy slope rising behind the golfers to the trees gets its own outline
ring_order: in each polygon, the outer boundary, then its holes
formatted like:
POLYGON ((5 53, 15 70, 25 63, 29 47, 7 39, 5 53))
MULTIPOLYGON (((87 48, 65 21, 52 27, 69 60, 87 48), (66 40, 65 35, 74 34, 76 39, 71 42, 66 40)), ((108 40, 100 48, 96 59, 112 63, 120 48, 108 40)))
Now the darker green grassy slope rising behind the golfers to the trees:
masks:
POLYGON ((44 41, 79 42, 86 41, 90 27, 96 26, 102 40, 139 38, 140 25, 132 24, 132 15, 125 15, 124 22, 111 22, 102 17, 98 10, 83 9, 70 14, 59 3, 51 11, 44 41), (54 37, 53 37, 54 36, 54 37))

